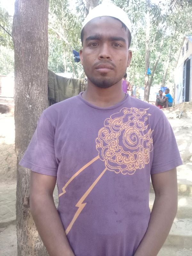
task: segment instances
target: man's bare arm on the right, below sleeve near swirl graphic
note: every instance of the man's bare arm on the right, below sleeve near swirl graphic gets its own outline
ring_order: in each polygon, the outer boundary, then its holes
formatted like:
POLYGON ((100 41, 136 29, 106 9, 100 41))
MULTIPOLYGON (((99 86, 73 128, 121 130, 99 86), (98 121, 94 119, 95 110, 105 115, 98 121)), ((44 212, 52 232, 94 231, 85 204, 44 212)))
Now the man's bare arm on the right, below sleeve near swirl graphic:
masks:
POLYGON ((164 244, 177 212, 177 171, 151 175, 155 202, 147 231, 134 256, 156 256, 164 244))

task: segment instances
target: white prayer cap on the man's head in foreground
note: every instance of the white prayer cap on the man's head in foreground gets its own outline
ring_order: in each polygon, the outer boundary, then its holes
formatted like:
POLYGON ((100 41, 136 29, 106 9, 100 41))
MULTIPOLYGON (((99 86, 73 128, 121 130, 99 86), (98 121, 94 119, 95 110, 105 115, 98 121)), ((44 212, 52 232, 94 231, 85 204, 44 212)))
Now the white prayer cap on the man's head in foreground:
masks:
POLYGON ((121 20, 131 33, 131 21, 129 20, 127 13, 111 3, 102 3, 93 8, 82 23, 82 29, 90 20, 101 16, 110 16, 121 20))

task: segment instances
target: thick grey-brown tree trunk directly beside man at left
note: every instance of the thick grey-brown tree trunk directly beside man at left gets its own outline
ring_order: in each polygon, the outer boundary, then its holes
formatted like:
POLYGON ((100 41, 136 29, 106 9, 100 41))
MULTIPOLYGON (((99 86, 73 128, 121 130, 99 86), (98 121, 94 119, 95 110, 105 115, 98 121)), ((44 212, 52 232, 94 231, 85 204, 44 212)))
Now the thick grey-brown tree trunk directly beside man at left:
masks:
POLYGON ((16 0, 13 17, 18 256, 47 255, 29 209, 30 172, 18 163, 48 107, 48 6, 48 0, 16 0))

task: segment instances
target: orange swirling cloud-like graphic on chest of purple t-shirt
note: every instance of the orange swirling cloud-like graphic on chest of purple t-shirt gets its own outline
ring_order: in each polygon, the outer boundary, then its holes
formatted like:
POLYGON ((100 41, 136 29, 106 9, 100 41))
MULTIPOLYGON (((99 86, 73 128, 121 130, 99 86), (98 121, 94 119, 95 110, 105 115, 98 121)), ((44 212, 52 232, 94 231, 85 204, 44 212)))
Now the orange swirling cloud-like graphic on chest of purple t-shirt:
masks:
POLYGON ((153 143, 147 110, 122 108, 105 119, 96 139, 96 149, 107 170, 133 174, 149 163, 153 143))

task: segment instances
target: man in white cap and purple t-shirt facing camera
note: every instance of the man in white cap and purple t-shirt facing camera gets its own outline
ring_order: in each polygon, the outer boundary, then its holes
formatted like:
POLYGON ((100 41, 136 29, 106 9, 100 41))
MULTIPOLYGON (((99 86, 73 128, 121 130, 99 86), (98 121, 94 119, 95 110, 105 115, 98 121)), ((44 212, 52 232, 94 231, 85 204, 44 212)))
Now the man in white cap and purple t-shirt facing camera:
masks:
POLYGON ((87 90, 43 112, 20 162, 32 170, 31 213, 51 256, 154 256, 172 226, 182 162, 164 113, 122 91, 130 31, 114 5, 89 13, 80 50, 87 90))

